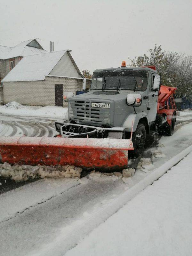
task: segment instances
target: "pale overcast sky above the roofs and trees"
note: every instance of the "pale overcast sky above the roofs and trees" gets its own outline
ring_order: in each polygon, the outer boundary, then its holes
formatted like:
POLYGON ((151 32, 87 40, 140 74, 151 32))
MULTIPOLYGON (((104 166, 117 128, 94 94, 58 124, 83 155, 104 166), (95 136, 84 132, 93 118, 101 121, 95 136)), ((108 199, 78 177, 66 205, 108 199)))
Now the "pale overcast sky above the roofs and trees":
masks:
POLYGON ((0 0, 0 45, 38 38, 72 50, 80 70, 119 67, 162 44, 192 54, 192 0, 0 0))

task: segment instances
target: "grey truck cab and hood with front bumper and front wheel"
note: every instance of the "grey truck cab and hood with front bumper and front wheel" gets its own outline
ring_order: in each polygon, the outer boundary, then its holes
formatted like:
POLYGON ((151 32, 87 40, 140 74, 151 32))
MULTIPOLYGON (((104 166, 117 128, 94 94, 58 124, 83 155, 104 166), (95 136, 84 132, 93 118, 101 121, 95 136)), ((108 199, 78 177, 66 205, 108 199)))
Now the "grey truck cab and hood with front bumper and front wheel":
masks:
POLYGON ((89 92, 68 99, 68 116, 56 122, 62 137, 129 139, 135 156, 155 129, 160 76, 154 67, 96 69, 89 92))

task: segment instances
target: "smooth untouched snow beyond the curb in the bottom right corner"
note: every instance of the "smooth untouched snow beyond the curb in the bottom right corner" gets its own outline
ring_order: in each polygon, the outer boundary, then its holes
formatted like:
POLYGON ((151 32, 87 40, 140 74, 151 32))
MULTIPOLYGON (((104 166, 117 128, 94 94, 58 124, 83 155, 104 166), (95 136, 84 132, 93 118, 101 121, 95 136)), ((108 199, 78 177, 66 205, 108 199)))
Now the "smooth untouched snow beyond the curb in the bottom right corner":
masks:
POLYGON ((65 255, 190 256, 191 166, 192 153, 65 255))

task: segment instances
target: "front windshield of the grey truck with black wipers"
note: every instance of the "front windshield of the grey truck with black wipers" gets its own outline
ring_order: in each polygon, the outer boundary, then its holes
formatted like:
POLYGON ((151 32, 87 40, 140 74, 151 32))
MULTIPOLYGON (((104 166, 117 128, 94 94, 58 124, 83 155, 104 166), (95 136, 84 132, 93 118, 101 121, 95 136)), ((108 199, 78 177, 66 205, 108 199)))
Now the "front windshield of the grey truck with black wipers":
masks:
POLYGON ((90 90, 145 91, 147 89, 147 81, 148 73, 143 70, 95 72, 90 90))

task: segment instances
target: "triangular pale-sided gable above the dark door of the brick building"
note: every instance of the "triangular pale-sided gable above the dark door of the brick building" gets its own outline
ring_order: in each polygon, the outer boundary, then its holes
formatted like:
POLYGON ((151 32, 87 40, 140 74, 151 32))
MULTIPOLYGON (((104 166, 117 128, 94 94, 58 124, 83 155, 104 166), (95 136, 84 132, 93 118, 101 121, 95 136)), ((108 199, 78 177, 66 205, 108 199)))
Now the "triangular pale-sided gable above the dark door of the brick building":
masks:
POLYGON ((49 76, 70 76, 82 78, 82 75, 80 75, 80 72, 77 72, 76 67, 74 66, 67 52, 58 61, 58 63, 49 73, 49 76))

